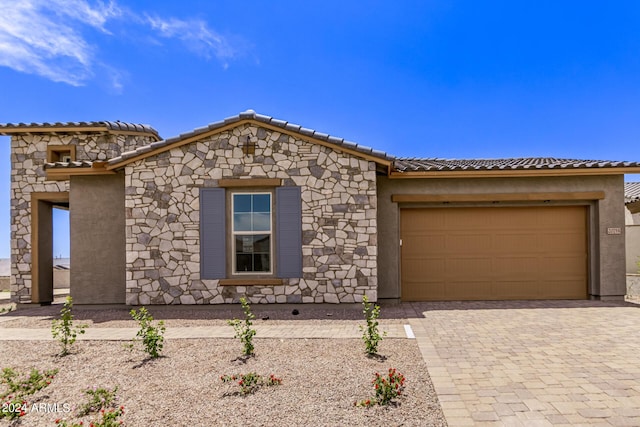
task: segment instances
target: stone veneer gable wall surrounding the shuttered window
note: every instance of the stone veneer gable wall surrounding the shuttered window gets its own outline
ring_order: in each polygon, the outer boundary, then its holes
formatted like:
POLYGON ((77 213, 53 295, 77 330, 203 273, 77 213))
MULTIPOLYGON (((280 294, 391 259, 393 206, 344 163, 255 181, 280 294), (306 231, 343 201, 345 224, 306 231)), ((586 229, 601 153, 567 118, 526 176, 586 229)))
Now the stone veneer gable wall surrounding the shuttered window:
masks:
MULTIPOLYGON (((126 166, 127 304, 360 302, 377 299, 375 164, 242 125, 126 166), (245 156, 239 141, 256 142, 245 156), (281 178, 302 190, 303 277, 279 286, 200 279, 199 188, 281 178)), ((276 260, 277 262, 277 260, 276 260)))

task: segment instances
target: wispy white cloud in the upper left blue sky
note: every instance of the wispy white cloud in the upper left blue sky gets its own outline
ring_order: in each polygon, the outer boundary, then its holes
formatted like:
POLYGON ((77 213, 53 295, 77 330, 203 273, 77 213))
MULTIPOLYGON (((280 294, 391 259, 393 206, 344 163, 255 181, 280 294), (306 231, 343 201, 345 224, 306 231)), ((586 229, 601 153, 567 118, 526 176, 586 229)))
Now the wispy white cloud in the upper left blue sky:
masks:
MULTIPOLYGON (((144 25, 163 38, 178 39, 197 55, 215 56, 225 67, 235 55, 227 40, 202 20, 140 19, 140 14, 115 1, 0 0, 0 11, 0 66, 73 86, 94 77, 96 68, 104 68, 112 76, 121 74, 96 59, 101 53, 98 46, 83 34, 94 30, 116 37, 108 29, 115 20, 144 25)), ((115 90, 122 90, 119 77, 112 81, 115 90)))

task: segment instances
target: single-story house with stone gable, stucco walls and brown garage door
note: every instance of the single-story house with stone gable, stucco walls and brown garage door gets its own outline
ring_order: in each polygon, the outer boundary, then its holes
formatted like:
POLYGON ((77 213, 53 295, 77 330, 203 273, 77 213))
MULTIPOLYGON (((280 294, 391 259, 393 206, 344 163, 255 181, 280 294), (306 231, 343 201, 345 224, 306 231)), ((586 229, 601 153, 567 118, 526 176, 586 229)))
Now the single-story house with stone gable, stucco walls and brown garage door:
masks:
POLYGON ((632 162, 400 159, 251 110, 175 138, 121 122, 11 135, 12 298, 78 304, 623 298, 632 162))

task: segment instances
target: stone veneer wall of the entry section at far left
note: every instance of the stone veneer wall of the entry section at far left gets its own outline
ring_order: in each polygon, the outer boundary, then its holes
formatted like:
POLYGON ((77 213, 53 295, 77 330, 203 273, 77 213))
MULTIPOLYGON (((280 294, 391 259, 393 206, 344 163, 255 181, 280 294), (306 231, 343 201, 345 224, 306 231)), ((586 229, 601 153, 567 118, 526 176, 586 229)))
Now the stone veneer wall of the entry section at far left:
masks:
POLYGON ((153 140, 125 135, 31 134, 11 138, 11 300, 31 301, 31 193, 69 191, 69 181, 47 181, 48 145, 76 145, 76 160, 107 160, 153 140))

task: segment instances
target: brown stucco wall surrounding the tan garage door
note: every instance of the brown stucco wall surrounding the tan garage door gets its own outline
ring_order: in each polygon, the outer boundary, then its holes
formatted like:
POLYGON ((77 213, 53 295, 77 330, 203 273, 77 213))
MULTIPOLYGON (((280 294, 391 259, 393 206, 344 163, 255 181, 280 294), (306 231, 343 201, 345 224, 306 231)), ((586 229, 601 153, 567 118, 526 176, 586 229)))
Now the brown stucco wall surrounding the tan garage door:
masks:
MULTIPOLYGON (((539 177, 539 178, 431 178, 389 179, 378 177, 379 298, 400 298, 400 206, 392 194, 491 194, 535 192, 605 191, 603 200, 585 202, 590 208, 589 292, 601 298, 622 298, 625 284, 625 238, 607 234, 608 228, 624 229, 622 176, 539 177)), ((561 202, 552 202, 560 203, 561 202)), ((575 202, 573 202, 575 203, 575 202)), ((502 205, 503 203, 501 203, 502 205)), ((442 204, 431 206, 486 206, 489 204, 442 204)), ((504 203, 506 205, 506 203, 504 203)), ((426 206, 426 204, 425 204, 426 206)))

